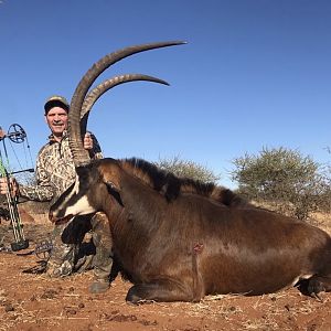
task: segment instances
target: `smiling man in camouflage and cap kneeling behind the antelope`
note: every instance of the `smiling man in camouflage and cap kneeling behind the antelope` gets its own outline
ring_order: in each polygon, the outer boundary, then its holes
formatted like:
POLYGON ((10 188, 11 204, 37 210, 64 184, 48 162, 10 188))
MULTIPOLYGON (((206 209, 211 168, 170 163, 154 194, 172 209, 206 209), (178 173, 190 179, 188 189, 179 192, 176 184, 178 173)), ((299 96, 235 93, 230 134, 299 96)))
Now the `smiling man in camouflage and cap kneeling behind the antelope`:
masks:
MULTIPOLYGON (((70 105, 62 96, 50 97, 44 105, 45 121, 51 129, 49 142, 41 148, 36 159, 35 185, 18 184, 14 179, 12 192, 19 196, 34 201, 51 201, 60 196, 75 181, 75 166, 68 147, 66 135, 70 105)), ((96 138, 87 132, 84 148, 92 159, 100 159, 102 150, 96 138)), ((6 194, 7 181, 0 179, 0 193, 6 194)), ((51 277, 64 277, 79 268, 84 269, 82 241, 92 228, 95 255, 93 257, 95 280, 89 287, 90 292, 104 292, 109 288, 109 275, 113 265, 111 235, 105 214, 96 213, 90 218, 89 228, 84 217, 75 217, 68 226, 55 225, 53 231, 53 249, 47 261, 46 273, 51 277), (79 259, 81 257, 81 259, 79 259), (79 259, 79 260, 78 260, 79 259), (82 266, 83 264, 83 266, 82 266)), ((85 265, 87 261, 85 261, 85 265)))

